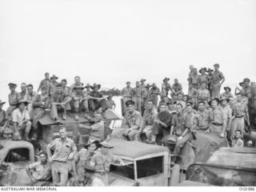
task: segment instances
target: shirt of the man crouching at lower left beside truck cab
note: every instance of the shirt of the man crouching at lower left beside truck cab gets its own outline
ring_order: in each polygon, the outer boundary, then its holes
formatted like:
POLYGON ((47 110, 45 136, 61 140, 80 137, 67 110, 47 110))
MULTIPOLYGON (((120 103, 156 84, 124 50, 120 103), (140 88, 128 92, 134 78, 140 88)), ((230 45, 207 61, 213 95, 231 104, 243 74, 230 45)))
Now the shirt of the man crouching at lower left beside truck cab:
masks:
POLYGON ((40 161, 35 162, 30 164, 30 169, 33 169, 32 176, 36 180, 49 180, 51 177, 50 163, 42 165, 40 161))

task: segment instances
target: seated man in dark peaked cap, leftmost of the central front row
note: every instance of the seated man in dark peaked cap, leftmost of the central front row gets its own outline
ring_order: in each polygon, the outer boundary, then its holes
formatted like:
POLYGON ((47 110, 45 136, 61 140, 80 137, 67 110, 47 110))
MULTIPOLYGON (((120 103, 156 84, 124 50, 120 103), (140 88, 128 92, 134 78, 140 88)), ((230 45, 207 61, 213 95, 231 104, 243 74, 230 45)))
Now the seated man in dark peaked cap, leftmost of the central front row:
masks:
POLYGON ((140 112, 134 110, 134 101, 126 101, 126 115, 122 123, 122 127, 113 131, 113 138, 129 139, 133 141, 138 137, 138 128, 142 122, 142 115, 140 112))

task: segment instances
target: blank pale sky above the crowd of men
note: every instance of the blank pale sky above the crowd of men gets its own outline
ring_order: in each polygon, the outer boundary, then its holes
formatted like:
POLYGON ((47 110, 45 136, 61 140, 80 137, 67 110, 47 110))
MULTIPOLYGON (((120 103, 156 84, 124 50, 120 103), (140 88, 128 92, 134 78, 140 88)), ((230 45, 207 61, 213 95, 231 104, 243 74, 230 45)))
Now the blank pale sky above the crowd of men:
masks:
POLYGON ((215 63, 234 87, 256 81, 254 0, 0 0, 0 99, 45 72, 122 88, 142 77, 187 84, 215 63))

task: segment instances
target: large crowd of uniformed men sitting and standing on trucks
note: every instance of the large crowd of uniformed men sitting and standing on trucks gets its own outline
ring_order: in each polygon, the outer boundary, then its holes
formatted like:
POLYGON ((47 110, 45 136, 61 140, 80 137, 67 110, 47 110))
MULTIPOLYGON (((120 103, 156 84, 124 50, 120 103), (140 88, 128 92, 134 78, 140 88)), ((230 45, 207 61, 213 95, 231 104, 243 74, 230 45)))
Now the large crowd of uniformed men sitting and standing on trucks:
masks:
MULTIPOLYGON (((225 77, 219 67, 215 64, 214 69, 198 71, 190 65, 187 94, 177 78, 171 85, 170 78, 165 77, 161 89, 156 84, 146 84, 145 79, 137 81, 134 88, 130 87, 130 81, 126 82, 121 91, 122 127, 110 131, 107 139, 163 145, 177 156, 187 142, 196 139, 196 131, 226 138, 230 147, 251 145, 251 141, 243 142, 243 134, 255 128, 256 84, 245 78, 239 84, 241 87, 235 88, 234 95, 228 86, 221 93, 225 77)), ((54 139, 47 151, 40 154, 40 162, 27 168, 32 185, 46 185, 52 178, 55 186, 72 183, 75 186, 107 186, 110 163, 123 164, 122 159, 109 152, 110 143, 104 141, 102 117, 106 110, 115 108, 112 96, 103 96, 100 84, 84 86, 79 76, 75 76, 74 84, 68 87, 66 79, 59 83, 58 76, 50 77, 48 72, 37 92, 32 84, 22 83, 21 92, 16 92, 17 84, 10 83, 9 87, 6 112, 2 109, 6 102, 0 100, 0 133, 3 135, 6 127, 12 127, 10 132, 14 140, 37 140, 38 120, 46 111, 50 111, 57 124, 59 116, 66 120, 68 111, 74 113, 75 120, 79 120, 81 112, 88 120, 91 116, 94 118, 91 126, 79 125, 91 130, 88 143, 80 151, 74 140, 66 136, 65 127, 60 129, 60 138, 54 139), (67 162, 70 161, 73 180, 68 178, 67 162)))

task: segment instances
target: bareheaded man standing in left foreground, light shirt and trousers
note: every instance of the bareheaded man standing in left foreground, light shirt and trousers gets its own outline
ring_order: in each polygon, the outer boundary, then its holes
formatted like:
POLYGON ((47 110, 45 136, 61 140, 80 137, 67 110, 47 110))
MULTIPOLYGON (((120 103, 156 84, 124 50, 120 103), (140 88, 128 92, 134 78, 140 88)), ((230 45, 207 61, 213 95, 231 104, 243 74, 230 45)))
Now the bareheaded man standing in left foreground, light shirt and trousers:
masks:
POLYGON ((77 147, 73 139, 69 139, 66 135, 66 128, 59 130, 60 138, 54 139, 47 146, 48 160, 51 163, 51 174, 54 186, 66 186, 68 180, 68 160, 74 159, 77 147), (54 155, 51 155, 54 150, 54 155))

